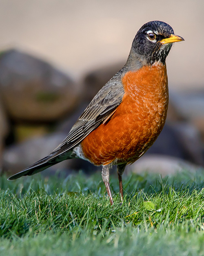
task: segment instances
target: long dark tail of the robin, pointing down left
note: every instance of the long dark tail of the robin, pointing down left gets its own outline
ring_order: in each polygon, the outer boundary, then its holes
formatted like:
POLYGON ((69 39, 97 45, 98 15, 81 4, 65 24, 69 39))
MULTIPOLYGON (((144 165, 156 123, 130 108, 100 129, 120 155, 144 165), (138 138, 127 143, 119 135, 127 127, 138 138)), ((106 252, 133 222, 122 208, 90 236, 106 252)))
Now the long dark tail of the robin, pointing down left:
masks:
POLYGON ((18 179, 22 176, 31 176, 33 174, 36 174, 38 172, 42 172, 43 170, 49 168, 52 165, 55 165, 56 163, 59 163, 61 161, 64 161, 65 159, 70 159, 71 157, 60 157, 59 155, 53 156, 50 154, 49 156, 44 157, 43 159, 39 160, 36 163, 33 163, 26 169, 22 170, 21 172, 18 172, 17 174, 12 175, 8 178, 8 180, 18 179))

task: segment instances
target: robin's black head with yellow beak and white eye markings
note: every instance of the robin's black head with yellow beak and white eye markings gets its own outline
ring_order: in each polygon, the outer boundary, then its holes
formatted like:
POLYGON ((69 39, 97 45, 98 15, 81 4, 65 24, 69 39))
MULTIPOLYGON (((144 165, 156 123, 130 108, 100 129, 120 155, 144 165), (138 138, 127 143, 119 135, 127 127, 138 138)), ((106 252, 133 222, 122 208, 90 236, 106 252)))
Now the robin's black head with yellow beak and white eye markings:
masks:
POLYGON ((167 23, 155 20, 139 29, 133 40, 132 50, 144 64, 152 65, 157 61, 164 64, 172 43, 183 40, 174 35, 173 28, 167 23))

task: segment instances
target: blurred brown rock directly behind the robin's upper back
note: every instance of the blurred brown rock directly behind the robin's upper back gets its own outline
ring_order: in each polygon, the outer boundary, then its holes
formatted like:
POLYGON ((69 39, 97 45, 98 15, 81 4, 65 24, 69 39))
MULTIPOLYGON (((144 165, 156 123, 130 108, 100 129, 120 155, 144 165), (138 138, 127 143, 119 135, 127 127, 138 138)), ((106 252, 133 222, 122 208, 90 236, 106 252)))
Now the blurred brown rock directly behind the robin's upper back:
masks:
POLYGON ((107 65, 89 72, 83 79, 83 97, 90 102, 98 91, 124 66, 124 63, 107 65))

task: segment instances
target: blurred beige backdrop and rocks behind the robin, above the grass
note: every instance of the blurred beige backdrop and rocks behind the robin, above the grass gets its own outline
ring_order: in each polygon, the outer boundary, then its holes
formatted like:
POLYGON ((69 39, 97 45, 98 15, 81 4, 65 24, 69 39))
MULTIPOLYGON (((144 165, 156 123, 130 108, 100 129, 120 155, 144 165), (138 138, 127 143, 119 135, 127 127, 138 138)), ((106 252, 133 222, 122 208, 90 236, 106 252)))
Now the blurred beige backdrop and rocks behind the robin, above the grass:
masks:
MULTIPOLYGON (((124 65, 137 30, 162 20, 185 41, 167 57, 170 105, 155 145, 132 170, 204 164, 204 2, 0 0, 0 166, 16 173, 49 154, 124 65)), ((95 170, 80 160, 56 169, 95 170)))

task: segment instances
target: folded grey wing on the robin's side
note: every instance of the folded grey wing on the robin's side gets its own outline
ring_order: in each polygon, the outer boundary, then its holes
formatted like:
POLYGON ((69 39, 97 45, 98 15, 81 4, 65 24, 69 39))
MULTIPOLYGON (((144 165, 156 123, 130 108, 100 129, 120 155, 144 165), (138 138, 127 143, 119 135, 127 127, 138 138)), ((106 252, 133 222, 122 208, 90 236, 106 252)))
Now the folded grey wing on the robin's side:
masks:
POLYGON ((58 154, 70 150, 96 129, 122 102, 124 88, 119 71, 95 95, 91 103, 75 122, 67 137, 53 151, 58 154))

